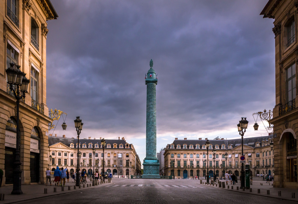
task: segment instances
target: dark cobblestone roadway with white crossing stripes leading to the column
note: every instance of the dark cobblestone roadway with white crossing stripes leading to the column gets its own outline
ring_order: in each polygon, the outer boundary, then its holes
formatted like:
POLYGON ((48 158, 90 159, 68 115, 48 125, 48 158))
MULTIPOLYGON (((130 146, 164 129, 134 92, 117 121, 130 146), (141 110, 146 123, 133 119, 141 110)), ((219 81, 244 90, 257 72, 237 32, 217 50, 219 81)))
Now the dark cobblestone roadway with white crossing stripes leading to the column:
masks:
POLYGON ((20 203, 297 204, 296 201, 199 185, 198 180, 113 179, 112 184, 20 203))

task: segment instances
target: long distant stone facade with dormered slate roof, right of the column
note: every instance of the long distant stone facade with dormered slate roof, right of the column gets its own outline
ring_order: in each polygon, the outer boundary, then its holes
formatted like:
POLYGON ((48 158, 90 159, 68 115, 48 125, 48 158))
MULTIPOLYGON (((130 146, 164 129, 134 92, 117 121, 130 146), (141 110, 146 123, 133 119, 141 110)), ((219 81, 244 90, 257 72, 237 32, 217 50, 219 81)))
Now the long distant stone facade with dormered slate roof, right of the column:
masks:
MULTIPOLYGON (((270 147, 272 139, 273 135, 243 139, 243 154, 246 158, 245 163, 250 165, 251 175, 274 175, 273 150, 270 147)), ((211 177, 214 173, 217 177, 223 177, 225 171, 239 176, 241 138, 214 139, 209 142, 210 147, 207 153, 206 140, 202 138, 198 140, 175 138, 174 142, 165 148, 165 175, 172 175, 175 179, 204 177, 208 164, 211 177), (215 157, 212 152, 214 147, 215 157)))

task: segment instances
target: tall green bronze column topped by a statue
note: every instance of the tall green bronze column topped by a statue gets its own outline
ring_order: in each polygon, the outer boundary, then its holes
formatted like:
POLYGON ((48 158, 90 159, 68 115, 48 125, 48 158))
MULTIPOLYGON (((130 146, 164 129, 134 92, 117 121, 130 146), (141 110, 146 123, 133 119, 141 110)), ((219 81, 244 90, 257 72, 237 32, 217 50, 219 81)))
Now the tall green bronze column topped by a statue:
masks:
POLYGON ((146 158, 143 162, 144 173, 142 178, 159 179, 159 161, 156 157, 156 85, 157 75, 152 69, 153 61, 150 60, 150 69, 145 76, 147 85, 147 111, 146 111, 146 158))

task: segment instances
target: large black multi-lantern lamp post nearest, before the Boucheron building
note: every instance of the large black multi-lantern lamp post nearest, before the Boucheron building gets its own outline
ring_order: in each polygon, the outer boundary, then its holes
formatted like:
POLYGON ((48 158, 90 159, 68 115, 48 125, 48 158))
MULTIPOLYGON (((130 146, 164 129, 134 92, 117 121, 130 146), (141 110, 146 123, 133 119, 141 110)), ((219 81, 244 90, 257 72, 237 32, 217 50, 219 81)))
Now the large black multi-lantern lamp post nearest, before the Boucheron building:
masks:
POLYGON ((20 125, 19 125, 19 105, 20 100, 25 98, 25 93, 27 93, 29 79, 25 77, 25 73, 20 70, 20 65, 16 65, 14 68, 14 63, 9 63, 10 67, 7 68, 7 84, 9 84, 9 89, 13 92, 14 97, 16 98, 16 154, 15 162, 13 163, 13 189, 11 194, 23 194, 21 189, 21 176, 22 171, 20 169, 21 158, 20 158, 20 125), (15 85, 15 87, 13 86, 15 85), (20 91, 23 93, 20 94, 20 91))

